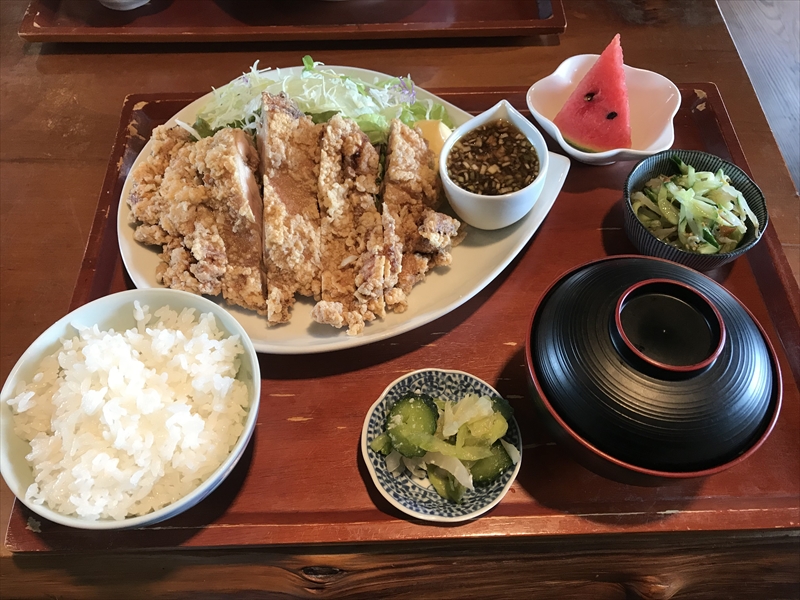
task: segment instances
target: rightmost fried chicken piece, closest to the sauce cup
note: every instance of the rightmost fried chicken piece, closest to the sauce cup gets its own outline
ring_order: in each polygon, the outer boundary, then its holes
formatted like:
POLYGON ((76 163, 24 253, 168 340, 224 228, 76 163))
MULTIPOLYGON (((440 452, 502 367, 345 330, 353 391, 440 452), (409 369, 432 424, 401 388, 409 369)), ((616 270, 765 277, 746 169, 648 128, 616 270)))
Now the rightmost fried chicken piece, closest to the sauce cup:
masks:
POLYGON ((458 238, 459 221, 434 210, 440 198, 435 155, 417 129, 392 121, 382 184, 385 254, 391 270, 386 278, 386 305, 395 312, 408 306, 407 296, 432 268, 449 265, 452 245, 458 238), (399 267, 397 256, 401 256, 399 267))

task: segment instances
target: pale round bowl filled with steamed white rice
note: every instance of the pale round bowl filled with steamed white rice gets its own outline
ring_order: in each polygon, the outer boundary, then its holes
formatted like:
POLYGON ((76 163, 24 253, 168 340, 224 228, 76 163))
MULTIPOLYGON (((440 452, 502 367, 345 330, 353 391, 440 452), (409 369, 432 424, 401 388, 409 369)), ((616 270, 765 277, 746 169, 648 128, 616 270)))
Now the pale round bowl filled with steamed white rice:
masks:
POLYGON ((168 289, 100 298, 12 369, 0 471, 28 508, 62 525, 162 521, 233 469, 255 429, 260 380, 247 334, 210 300, 168 289))

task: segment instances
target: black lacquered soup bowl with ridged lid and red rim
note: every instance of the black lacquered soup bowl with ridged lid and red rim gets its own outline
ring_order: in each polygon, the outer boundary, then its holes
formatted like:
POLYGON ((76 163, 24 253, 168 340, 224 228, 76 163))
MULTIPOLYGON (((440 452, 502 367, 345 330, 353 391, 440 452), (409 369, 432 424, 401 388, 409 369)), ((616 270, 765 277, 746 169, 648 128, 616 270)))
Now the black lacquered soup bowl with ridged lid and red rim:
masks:
POLYGON ((611 257, 561 277, 533 313, 526 358, 551 433, 625 483, 745 460, 781 404, 775 352, 747 308, 661 259, 611 257))

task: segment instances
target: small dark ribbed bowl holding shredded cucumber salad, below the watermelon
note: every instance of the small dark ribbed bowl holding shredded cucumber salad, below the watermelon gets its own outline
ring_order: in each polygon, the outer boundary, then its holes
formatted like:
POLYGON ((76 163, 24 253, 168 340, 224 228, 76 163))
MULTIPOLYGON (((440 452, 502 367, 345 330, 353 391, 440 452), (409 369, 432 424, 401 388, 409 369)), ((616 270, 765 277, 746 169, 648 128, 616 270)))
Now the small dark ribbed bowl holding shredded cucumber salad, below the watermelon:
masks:
POLYGON ((633 168, 633 171, 625 180, 623 194, 625 233, 639 252, 649 256, 666 258, 698 271, 711 271, 736 260, 758 243, 769 221, 764 194, 755 182, 748 177, 747 173, 733 163, 699 150, 665 150, 642 160, 633 168), (692 165, 696 171, 713 171, 716 173, 719 169, 723 169, 725 174, 730 177, 731 185, 742 193, 750 209, 756 215, 759 223, 758 235, 756 235, 754 224, 750 219, 747 219, 747 233, 745 233, 744 238, 736 249, 725 254, 697 254, 681 250, 662 242, 653 235, 634 214, 631 206, 631 194, 641 191, 644 188, 644 184, 654 177, 678 174, 678 167, 672 162, 673 156, 679 157, 687 165, 692 165))

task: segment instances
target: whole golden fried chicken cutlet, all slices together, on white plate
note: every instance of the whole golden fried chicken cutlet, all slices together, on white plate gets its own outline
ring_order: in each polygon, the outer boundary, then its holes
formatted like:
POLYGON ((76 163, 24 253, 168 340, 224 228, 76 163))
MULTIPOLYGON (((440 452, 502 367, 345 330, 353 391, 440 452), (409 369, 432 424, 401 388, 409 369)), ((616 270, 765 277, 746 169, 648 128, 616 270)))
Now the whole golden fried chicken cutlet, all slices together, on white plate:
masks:
POLYGON ((288 97, 264 94, 258 150, 239 129, 196 142, 154 130, 131 173, 134 238, 161 247, 163 285, 221 294, 268 325, 290 319, 296 295, 313 297, 315 321, 357 335, 406 310, 463 236, 434 210, 440 182, 419 130, 392 122, 380 189, 379 162, 354 121, 315 125, 288 97))

